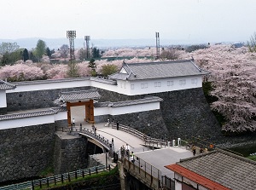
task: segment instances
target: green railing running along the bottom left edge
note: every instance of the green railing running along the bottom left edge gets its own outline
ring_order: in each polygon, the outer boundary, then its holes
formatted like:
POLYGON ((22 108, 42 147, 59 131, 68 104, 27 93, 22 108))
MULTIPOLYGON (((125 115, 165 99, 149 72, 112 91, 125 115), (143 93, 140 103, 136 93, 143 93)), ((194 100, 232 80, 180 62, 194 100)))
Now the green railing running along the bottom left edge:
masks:
POLYGON ((70 182, 73 179, 77 179, 78 177, 83 177, 88 176, 94 173, 98 173, 100 171, 106 170, 105 165, 98 165, 89 169, 84 169, 84 170, 77 170, 73 172, 68 172, 65 174, 57 175, 57 176, 49 176, 46 178, 38 179, 38 180, 33 180, 33 181, 26 181, 18 184, 13 184, 9 186, 4 186, 0 187, 0 190, 17 190, 17 189, 34 189, 34 187, 40 187, 42 188, 43 186, 49 187, 50 184, 55 184, 58 183, 66 183, 70 182))

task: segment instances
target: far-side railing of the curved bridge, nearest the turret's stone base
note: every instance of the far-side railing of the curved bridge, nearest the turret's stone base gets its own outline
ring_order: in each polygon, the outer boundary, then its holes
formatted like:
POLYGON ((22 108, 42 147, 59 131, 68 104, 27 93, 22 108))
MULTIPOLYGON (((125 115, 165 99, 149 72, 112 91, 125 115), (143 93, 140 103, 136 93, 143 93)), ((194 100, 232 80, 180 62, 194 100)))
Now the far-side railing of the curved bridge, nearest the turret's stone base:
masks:
MULTIPOLYGON (((111 124, 112 128, 116 129, 116 124, 111 124)), ((153 138, 151 136, 148 136, 146 134, 144 134, 141 131, 135 130, 133 128, 131 128, 130 126, 126 126, 124 124, 119 124, 119 130, 123 130, 126 133, 129 133, 131 135, 135 135, 138 138, 142 139, 145 143, 145 146, 148 147, 166 147, 166 146, 171 146, 171 142, 170 141, 166 141, 163 139, 157 139, 157 138, 153 138)))

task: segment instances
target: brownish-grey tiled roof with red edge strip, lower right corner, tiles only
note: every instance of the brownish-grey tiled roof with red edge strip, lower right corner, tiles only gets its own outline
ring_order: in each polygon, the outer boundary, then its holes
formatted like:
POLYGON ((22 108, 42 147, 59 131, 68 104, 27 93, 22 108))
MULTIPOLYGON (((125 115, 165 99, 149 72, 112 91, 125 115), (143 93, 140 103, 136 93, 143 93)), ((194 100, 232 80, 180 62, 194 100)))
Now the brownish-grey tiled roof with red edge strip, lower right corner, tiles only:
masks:
POLYGON ((221 149, 183 159, 177 165, 233 190, 256 189, 256 162, 221 149))

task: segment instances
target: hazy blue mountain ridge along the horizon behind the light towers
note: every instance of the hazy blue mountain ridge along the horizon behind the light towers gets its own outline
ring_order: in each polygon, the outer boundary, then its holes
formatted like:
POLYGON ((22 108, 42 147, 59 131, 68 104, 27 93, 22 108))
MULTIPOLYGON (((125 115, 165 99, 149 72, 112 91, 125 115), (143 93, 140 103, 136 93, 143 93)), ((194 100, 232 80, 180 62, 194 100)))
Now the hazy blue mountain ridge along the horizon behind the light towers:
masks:
MULTIPOLYGON (((43 40, 49 49, 59 49, 63 44, 69 44, 69 41, 65 37, 47 38, 47 37, 24 37, 17 39, 0 39, 0 43, 17 43, 20 48, 34 49, 37 46, 38 39, 43 40)), ((191 44, 206 44, 208 42, 202 42, 201 40, 173 40, 173 39, 161 39, 160 46, 172 46, 172 45, 191 45, 191 44)), ((230 42, 231 43, 231 42, 230 42)), ((84 48, 84 39, 74 39, 75 49, 84 48)), ((98 49, 114 49, 114 48, 142 48, 142 47, 155 47, 154 38, 137 38, 137 39, 91 39, 90 47, 96 47, 98 49)))

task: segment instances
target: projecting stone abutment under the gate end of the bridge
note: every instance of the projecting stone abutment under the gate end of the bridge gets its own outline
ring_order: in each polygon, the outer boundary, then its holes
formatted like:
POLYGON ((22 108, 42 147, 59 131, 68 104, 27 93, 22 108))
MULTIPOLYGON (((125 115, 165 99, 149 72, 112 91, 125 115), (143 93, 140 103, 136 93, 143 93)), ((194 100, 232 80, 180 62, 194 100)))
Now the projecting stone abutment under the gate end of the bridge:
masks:
POLYGON ((56 133, 55 175, 87 167, 87 138, 56 133))

